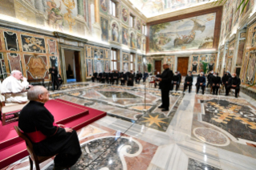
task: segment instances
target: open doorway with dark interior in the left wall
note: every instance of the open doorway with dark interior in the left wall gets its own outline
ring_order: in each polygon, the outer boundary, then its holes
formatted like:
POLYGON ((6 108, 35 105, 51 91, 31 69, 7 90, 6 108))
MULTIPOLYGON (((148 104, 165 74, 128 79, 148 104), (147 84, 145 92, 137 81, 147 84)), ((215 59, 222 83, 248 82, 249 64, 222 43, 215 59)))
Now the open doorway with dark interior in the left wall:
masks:
POLYGON ((79 51, 64 51, 67 83, 81 82, 79 51))

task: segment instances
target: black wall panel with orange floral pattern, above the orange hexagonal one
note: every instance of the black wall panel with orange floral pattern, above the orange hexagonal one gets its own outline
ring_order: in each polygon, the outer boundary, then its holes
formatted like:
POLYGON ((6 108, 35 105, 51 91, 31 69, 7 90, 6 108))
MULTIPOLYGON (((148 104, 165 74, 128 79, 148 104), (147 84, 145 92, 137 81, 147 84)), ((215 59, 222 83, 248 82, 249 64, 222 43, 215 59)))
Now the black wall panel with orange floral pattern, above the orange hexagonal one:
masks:
POLYGON ((21 34, 22 49, 26 52, 46 53, 44 38, 21 34))

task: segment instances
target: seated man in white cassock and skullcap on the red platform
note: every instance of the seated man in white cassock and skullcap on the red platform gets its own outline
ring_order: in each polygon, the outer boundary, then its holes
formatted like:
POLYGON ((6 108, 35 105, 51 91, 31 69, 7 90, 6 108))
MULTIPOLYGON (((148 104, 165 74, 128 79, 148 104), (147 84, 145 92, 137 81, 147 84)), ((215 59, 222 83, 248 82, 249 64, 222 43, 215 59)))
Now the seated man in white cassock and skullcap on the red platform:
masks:
POLYGON ((11 71, 11 75, 3 80, 1 85, 2 93, 12 93, 6 95, 6 102, 10 103, 26 103, 27 95, 25 91, 27 87, 32 87, 23 77, 20 71, 11 71), (22 80, 22 81, 21 81, 22 80))

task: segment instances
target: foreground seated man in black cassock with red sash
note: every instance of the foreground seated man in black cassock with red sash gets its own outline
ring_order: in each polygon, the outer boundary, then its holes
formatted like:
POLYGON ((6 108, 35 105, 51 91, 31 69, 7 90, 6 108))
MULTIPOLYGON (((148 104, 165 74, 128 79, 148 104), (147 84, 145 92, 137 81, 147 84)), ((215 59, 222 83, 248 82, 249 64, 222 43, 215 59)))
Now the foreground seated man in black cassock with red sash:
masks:
POLYGON ((70 168, 79 160, 81 148, 77 133, 62 124, 56 124, 54 116, 44 107, 49 92, 43 86, 27 91, 30 100, 22 108, 18 127, 30 138, 38 156, 55 156, 55 169, 70 168))

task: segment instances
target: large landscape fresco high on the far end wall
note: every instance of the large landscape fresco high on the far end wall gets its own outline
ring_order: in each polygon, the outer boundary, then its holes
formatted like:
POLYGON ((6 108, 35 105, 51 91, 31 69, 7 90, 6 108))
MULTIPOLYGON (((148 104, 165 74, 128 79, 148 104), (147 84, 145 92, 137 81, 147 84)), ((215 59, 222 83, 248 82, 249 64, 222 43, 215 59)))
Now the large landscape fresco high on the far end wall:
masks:
POLYGON ((150 26, 149 52, 213 48, 216 13, 150 26))

